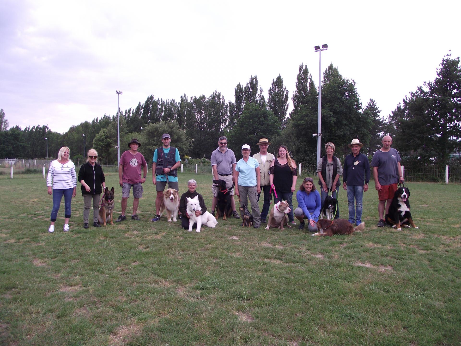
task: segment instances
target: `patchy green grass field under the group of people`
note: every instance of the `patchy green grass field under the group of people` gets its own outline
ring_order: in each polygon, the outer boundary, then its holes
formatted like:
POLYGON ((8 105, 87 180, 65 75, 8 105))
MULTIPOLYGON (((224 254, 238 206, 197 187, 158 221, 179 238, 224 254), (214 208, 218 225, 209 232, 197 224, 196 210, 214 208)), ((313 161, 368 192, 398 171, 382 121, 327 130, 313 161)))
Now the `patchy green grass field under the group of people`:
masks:
MULTIPOLYGON (((181 192, 191 178, 210 207, 211 175, 181 174, 181 192)), ((85 230, 77 193, 71 231, 63 201, 48 234, 45 179, 1 176, 0 345, 460 345, 461 185, 410 184, 420 229, 402 232, 375 226, 373 186, 350 236, 235 219, 188 233, 150 222, 149 180, 142 221, 85 230)))

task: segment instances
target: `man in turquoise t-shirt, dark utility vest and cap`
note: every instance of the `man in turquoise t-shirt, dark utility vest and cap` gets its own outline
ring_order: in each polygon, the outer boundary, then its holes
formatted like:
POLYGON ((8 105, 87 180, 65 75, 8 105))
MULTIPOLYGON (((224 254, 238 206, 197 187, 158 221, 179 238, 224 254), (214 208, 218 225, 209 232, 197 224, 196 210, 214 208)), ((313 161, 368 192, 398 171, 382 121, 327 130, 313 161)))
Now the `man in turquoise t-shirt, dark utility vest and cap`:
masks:
POLYGON ((162 135, 162 142, 163 147, 155 149, 154 158, 152 159, 152 182, 157 191, 157 196, 155 197, 156 214, 152 219, 154 222, 160 219, 160 204, 162 203, 166 183, 171 189, 179 191, 177 182, 177 168, 181 165, 179 151, 170 146, 171 137, 168 133, 162 135))

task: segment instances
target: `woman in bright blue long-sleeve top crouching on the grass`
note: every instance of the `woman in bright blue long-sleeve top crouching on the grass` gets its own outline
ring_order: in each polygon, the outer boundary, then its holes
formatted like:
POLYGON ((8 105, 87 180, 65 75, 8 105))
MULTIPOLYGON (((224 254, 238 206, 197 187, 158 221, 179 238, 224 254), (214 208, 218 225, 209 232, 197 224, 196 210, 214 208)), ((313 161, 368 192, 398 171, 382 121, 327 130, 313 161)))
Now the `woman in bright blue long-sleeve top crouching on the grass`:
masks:
POLYGON ((315 189, 312 178, 306 178, 302 181, 299 191, 296 192, 298 208, 295 209, 296 219, 301 221, 299 229, 304 229, 304 219, 307 219, 307 229, 309 232, 317 232, 317 224, 320 215, 320 194, 315 189))

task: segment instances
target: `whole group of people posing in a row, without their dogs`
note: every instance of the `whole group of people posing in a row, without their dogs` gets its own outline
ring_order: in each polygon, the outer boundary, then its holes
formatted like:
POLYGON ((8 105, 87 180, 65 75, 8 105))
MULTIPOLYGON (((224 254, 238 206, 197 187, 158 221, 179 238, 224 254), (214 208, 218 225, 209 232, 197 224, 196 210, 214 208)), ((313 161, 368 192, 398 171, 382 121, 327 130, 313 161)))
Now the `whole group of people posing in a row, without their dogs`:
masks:
MULTIPOLYGON (((156 186, 155 209, 156 215, 151 221, 160 220, 160 203, 163 198, 163 191, 166 185, 179 191, 177 168, 181 164, 181 157, 178 149, 170 145, 171 136, 168 133, 162 135, 162 146, 155 149, 152 163, 152 182, 156 186)), ((397 183, 403 181, 400 168, 400 155, 391 148, 392 138, 384 136, 383 148, 379 149, 372 159, 373 177, 375 187, 378 190, 378 227, 384 226, 384 211, 387 213, 397 183)), ((307 177, 303 180, 296 192, 298 207, 293 211, 292 198, 296 191, 296 163, 290 157, 288 149, 284 145, 277 148, 277 156, 269 153, 268 147, 271 143, 267 138, 261 138, 257 145, 260 151, 250 156, 251 147, 248 144, 242 146, 242 159, 236 161, 234 152, 227 148, 227 138, 222 136, 218 140, 218 148, 211 155, 211 165, 213 179, 225 180, 230 188, 235 185, 235 189, 230 189, 231 196, 239 198, 240 206, 251 205, 254 227, 259 228, 261 223, 266 223, 272 198, 274 203, 286 201, 290 206, 288 214, 289 222, 296 225, 296 219, 300 221, 300 229, 304 229, 305 220, 308 221, 307 229, 316 232, 316 222, 319 219, 320 208, 326 196, 331 193, 333 198, 337 198, 338 187, 341 185, 340 177, 343 176, 343 189, 347 191, 349 206, 349 222, 360 224, 362 217, 363 192, 368 190, 370 180, 370 165, 366 155, 361 154, 363 144, 358 139, 353 139, 349 148, 352 153, 347 155, 344 167, 341 161, 334 156, 335 145, 331 142, 325 144, 325 155, 317 163, 318 185, 320 193, 317 191, 313 178, 307 177), (259 199, 261 192, 264 194, 262 210, 259 209, 259 199)), ((129 150, 126 150, 120 157, 118 167, 119 185, 122 187, 121 214, 115 222, 126 220, 125 211, 130 190, 133 190, 133 213, 132 220, 141 220, 136 214, 139 198, 142 197, 143 187, 147 179, 147 161, 138 151, 141 143, 133 138, 128 143, 129 150), (142 173, 141 174, 141 170, 142 173)), ((54 232, 54 224, 58 214, 62 197, 65 198, 65 224, 63 231, 69 231, 69 219, 71 217, 71 198, 75 197, 77 191, 77 174, 75 165, 69 160, 70 149, 62 147, 59 150, 58 159, 51 162, 48 176, 48 194, 53 196, 53 209, 51 212, 51 225, 48 232, 54 232)), ((86 163, 84 163, 78 173, 78 181, 82 185, 83 195, 83 227, 89 228, 89 210, 93 204, 93 226, 100 227, 98 223, 98 213, 100 195, 106 188, 105 177, 102 167, 97 163, 98 153, 95 149, 88 151, 86 163), (101 188, 102 186, 102 188, 101 188)), ((191 179, 188 182, 188 191, 181 197, 195 197, 199 195, 202 212, 207 210, 203 197, 195 191, 197 183, 191 179), (187 196, 186 196, 187 195, 187 196), (203 205, 202 205, 203 204, 203 205)), ((211 214, 214 216, 218 204, 219 188, 215 185, 213 189, 213 202, 211 214)), ((237 213, 234 198, 231 198, 231 208, 233 216, 240 219, 237 213)), ((179 206, 180 216, 183 219, 182 227, 189 229, 189 216, 185 212, 184 206, 179 206)), ((339 218, 337 210, 336 218, 339 218)))

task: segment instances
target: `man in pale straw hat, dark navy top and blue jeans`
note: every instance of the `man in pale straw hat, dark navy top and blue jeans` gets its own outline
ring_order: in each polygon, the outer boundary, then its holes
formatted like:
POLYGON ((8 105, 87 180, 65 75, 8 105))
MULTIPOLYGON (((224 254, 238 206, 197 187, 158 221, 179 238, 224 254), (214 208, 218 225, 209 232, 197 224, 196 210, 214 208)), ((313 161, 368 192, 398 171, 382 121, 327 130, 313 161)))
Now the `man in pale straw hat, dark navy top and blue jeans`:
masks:
POLYGON ((348 145, 352 154, 344 159, 343 188, 347 191, 349 203, 349 222, 360 225, 362 222, 363 191, 368 191, 370 181, 370 163, 366 155, 360 152, 363 144, 353 139, 348 145), (354 205, 354 199, 356 205, 354 205))

